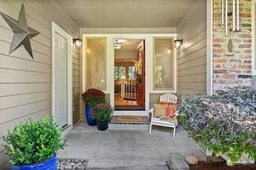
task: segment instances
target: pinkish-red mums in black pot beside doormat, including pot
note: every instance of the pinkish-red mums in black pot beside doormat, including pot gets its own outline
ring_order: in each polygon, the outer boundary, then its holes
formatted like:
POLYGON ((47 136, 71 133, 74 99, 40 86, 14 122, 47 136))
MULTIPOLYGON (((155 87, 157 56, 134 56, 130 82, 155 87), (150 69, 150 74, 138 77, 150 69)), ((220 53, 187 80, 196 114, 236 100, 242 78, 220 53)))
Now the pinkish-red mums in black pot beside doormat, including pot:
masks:
POLYGON ((92 119, 97 122, 98 130, 104 131, 108 129, 108 122, 114 113, 114 107, 108 103, 100 103, 93 106, 90 110, 92 119))

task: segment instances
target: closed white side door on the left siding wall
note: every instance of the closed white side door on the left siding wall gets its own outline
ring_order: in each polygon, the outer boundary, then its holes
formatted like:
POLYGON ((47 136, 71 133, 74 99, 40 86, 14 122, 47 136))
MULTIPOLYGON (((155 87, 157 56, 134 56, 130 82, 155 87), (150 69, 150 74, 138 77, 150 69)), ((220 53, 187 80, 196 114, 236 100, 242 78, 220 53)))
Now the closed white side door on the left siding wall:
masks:
POLYGON ((55 121, 67 124, 67 40, 55 33, 55 121))

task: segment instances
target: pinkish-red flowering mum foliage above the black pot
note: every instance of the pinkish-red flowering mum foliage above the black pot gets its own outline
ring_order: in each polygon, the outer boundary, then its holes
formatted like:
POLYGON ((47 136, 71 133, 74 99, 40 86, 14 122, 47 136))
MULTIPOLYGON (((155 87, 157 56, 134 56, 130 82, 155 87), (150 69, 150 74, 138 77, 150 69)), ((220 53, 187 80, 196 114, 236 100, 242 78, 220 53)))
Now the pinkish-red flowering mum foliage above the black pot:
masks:
POLYGON ((90 114, 92 119, 110 120, 115 108, 108 103, 96 104, 91 108, 90 114))

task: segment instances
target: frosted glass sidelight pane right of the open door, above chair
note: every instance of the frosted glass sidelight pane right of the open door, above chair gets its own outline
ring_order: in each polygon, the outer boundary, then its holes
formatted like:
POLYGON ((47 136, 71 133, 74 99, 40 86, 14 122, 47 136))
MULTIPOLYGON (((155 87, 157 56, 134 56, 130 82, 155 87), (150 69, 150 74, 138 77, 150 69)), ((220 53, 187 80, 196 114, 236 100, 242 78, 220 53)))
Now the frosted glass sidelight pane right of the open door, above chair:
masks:
POLYGON ((154 37, 154 89, 173 89, 173 37, 154 37))

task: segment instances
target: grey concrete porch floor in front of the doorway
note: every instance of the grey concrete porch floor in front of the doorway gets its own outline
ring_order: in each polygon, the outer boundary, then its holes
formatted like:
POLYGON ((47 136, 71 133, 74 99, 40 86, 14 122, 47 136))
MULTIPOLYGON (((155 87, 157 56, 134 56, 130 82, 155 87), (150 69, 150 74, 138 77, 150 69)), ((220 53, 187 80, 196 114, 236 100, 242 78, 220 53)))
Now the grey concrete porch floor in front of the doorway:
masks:
POLYGON ((206 155, 179 126, 175 138, 172 136, 173 128, 168 127, 153 126, 151 134, 149 129, 99 131, 97 126, 80 121, 65 136, 69 138, 68 147, 59 150, 57 158, 89 160, 86 169, 93 170, 188 169, 184 164, 187 154, 206 160, 206 155))

